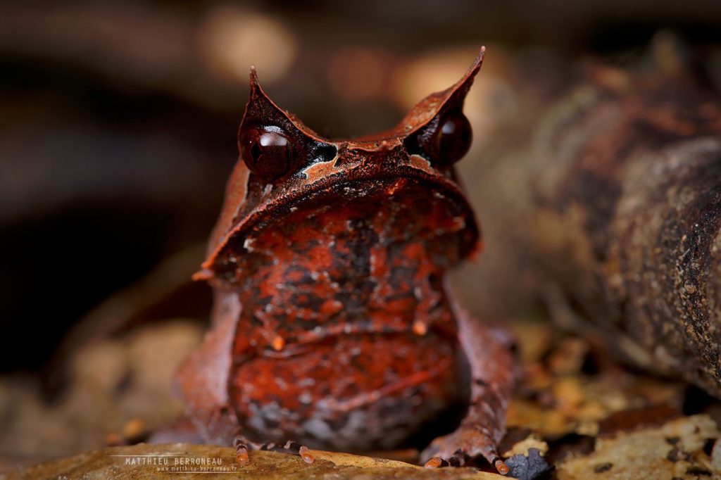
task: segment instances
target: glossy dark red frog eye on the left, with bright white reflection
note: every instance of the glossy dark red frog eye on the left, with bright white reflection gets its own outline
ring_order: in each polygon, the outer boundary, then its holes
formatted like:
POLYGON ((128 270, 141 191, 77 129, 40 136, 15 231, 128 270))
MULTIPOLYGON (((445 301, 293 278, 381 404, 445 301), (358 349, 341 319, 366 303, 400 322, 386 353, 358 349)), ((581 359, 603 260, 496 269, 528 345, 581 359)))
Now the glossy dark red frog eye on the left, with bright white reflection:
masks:
POLYGON ((240 154, 251 172, 271 182, 296 166, 300 152, 283 133, 249 128, 240 137, 240 154))

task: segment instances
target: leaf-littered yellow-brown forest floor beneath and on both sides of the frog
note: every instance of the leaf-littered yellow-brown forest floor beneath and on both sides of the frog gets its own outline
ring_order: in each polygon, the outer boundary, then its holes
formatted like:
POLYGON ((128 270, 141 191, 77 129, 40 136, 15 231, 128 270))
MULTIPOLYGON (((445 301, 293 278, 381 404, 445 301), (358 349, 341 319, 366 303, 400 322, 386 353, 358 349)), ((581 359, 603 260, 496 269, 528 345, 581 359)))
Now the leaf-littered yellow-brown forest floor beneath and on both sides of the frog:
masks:
MULTIPOLYGON (((521 346, 520 381, 501 445, 503 455, 513 457, 512 474, 522 479, 721 478, 720 402, 686 383, 617 363, 596 339, 540 321, 510 325, 521 346)), ((226 467, 254 478, 495 476, 472 468, 419 469, 412 466, 415 450, 373 453, 393 461, 317 452, 313 465, 294 455, 260 452, 252 454, 249 466, 237 467, 229 448, 141 443, 180 417, 172 373, 202 332, 196 321, 174 319, 84 345, 71 356, 68 386, 54 401, 43 401, 40 386, 29 377, 0 378, 0 471, 7 478, 149 478, 158 474, 156 465, 128 465, 125 459, 161 455, 221 458, 226 467)), ((218 477, 227 478, 222 474, 218 477)))

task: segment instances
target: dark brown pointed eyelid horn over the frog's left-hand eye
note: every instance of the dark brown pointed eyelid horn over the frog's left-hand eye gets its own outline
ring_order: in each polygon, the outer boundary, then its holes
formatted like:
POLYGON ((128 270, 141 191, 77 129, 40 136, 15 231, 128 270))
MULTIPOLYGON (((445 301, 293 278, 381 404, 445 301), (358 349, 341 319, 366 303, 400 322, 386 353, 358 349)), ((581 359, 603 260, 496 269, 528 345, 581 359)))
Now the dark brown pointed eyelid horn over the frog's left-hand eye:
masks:
POLYGON ((298 166, 317 160, 327 161, 335 156, 335 146, 303 125, 297 117, 275 105, 275 102, 265 94, 258 81, 255 66, 250 68, 250 94, 238 129, 239 149, 242 149, 240 143, 244 133, 252 128, 283 133, 288 141, 301 151, 303 158, 300 159, 301 165, 298 166))

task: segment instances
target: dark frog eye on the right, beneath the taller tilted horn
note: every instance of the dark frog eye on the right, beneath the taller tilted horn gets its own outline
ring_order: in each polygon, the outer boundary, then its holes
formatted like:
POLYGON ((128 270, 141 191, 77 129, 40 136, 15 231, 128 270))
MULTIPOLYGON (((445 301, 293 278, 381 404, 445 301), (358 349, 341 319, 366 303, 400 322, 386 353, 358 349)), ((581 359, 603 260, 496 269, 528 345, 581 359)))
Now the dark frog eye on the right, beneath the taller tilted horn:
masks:
POLYGON ((419 135, 417 143, 432 161, 451 165, 468 152, 472 139, 471 123, 466 116, 451 112, 431 123, 430 128, 419 135))

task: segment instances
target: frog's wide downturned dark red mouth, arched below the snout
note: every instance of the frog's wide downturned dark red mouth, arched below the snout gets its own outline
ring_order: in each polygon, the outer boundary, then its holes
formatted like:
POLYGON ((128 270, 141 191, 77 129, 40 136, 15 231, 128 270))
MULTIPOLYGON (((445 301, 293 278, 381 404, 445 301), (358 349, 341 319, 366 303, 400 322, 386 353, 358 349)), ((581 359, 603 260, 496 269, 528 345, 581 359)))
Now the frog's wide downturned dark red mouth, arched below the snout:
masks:
POLYGON ((196 277, 232 282, 239 269, 254 270, 241 265, 249 258, 273 257, 274 249, 312 236, 321 241, 342 235, 342 221, 374 223, 386 242, 425 244, 443 267, 452 267, 480 246, 472 207, 456 181, 412 164, 325 175, 256 203, 261 204, 237 215, 240 220, 196 277))

